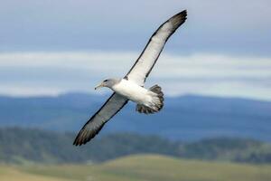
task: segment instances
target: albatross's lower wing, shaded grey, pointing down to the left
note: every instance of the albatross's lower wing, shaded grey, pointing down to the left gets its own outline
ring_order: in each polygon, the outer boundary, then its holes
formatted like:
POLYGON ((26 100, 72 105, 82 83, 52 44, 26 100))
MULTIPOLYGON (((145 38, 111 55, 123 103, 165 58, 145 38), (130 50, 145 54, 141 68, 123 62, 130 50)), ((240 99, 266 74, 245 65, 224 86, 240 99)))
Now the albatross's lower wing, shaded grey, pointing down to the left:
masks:
POLYGON ((89 119, 85 126, 79 131, 73 145, 86 144, 94 138, 105 123, 117 114, 127 103, 127 99, 117 93, 113 93, 106 103, 89 119))

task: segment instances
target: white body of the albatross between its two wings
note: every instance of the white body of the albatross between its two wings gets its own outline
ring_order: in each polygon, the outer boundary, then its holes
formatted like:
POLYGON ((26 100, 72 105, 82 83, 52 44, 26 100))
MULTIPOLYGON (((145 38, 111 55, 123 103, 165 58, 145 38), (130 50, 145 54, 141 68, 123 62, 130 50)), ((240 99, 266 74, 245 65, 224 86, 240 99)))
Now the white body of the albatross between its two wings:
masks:
POLYGON ((145 106, 151 105, 153 97, 155 96, 154 92, 146 90, 134 81, 127 81, 126 79, 122 79, 116 85, 112 86, 112 90, 126 97, 128 100, 145 106))

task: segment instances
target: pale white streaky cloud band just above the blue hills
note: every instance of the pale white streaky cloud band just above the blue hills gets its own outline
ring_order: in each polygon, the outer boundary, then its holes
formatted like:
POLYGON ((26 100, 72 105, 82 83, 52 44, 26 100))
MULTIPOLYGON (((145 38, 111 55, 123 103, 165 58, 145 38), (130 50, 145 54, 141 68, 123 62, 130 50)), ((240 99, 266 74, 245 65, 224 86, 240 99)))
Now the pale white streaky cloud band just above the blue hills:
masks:
MULTIPOLYGON (((33 96, 94 92, 98 81, 123 77, 137 56, 137 52, 3 52, 0 93, 33 96)), ((169 96, 202 94, 271 100, 270 80, 270 58, 163 53, 146 86, 158 83, 169 96)))

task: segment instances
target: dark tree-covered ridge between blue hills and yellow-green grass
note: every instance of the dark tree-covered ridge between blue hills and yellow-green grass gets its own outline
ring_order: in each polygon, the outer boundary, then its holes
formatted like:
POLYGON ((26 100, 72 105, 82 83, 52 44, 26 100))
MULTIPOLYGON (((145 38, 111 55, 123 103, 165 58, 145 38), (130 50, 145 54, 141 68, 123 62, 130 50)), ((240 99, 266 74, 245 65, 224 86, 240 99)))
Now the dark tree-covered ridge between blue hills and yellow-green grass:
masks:
POLYGON ((99 137, 72 146, 73 133, 39 129, 0 129, 0 162, 23 164, 101 162, 133 154, 160 154, 206 160, 271 163, 271 145, 253 139, 211 138, 179 142, 131 133, 99 137))

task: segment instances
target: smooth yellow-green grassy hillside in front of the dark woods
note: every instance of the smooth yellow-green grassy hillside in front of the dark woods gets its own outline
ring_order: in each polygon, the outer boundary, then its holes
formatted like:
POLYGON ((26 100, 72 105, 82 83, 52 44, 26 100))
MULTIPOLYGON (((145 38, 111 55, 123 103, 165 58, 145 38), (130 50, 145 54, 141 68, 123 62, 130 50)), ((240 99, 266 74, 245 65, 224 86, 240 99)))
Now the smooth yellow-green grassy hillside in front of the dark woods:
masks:
POLYGON ((9 181, 270 181, 271 166, 136 155, 98 165, 0 166, 0 180, 6 178, 9 181))

